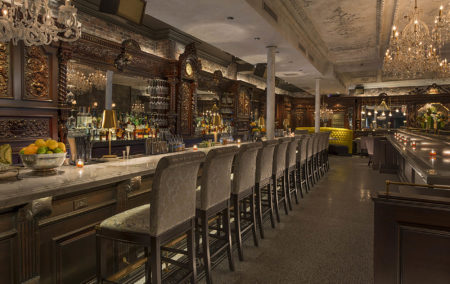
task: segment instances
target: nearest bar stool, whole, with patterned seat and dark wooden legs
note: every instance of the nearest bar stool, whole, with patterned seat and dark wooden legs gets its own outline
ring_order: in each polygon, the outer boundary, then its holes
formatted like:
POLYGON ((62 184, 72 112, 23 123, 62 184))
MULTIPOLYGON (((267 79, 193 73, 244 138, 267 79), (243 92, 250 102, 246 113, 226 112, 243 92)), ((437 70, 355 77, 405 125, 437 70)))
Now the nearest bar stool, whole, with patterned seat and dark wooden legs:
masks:
POLYGON ((161 261, 188 270, 183 281, 190 278, 191 283, 196 282, 195 190, 198 169, 204 158, 201 152, 161 158, 156 167, 150 204, 114 215, 96 227, 97 283, 103 283, 102 238, 145 246, 146 283, 161 283, 161 261), (187 251, 163 247, 186 233, 187 251), (161 250, 186 255, 188 263, 163 257, 161 250))

